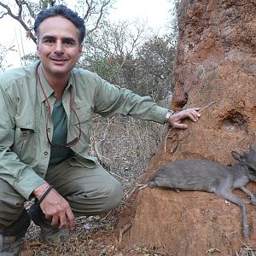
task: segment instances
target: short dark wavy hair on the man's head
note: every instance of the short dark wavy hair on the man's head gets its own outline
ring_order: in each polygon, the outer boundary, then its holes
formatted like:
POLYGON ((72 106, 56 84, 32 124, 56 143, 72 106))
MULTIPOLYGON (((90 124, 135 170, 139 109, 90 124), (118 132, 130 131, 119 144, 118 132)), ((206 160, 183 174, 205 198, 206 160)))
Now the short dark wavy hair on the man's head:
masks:
POLYGON ((34 23, 34 31, 38 38, 39 26, 42 21, 49 17, 62 16, 67 20, 70 20, 74 26, 78 28, 79 32, 79 44, 82 44, 85 36, 85 25, 84 20, 79 17, 79 15, 71 9, 68 9, 67 6, 60 4, 55 5, 47 9, 42 9, 36 16, 34 23))

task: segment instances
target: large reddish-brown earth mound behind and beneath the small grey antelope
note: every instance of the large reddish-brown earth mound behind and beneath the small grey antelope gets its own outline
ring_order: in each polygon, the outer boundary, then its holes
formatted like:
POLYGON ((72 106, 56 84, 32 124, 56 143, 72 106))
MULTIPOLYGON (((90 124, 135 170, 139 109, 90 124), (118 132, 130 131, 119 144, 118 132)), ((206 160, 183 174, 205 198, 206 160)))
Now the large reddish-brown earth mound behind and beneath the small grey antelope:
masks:
MULTIPOLYGON (((146 179, 170 160, 234 165, 230 151, 247 151, 256 139, 255 0, 182 0, 178 26, 171 108, 208 107, 197 123, 186 120, 188 130, 169 131, 146 179)), ((253 183, 247 187, 256 193, 253 183)), ((256 206, 247 205, 248 239, 240 207, 217 195, 147 188, 139 191, 134 209, 125 237, 133 245, 181 256, 234 255, 242 242, 256 246, 256 206)))

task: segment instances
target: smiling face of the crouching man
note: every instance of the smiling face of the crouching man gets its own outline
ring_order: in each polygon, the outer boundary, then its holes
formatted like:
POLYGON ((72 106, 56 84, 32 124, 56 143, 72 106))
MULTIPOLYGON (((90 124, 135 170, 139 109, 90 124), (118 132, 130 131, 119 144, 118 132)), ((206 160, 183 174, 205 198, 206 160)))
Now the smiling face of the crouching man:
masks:
POLYGON ((45 19, 39 26, 37 49, 46 79, 68 78, 82 53, 77 27, 61 16, 45 19))

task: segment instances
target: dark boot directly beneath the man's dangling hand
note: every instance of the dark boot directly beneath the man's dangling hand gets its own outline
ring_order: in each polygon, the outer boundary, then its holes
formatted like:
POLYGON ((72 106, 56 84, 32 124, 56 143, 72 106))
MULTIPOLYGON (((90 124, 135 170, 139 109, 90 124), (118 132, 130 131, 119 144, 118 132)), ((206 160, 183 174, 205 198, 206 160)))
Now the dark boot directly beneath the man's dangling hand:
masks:
POLYGON ((51 220, 44 217, 44 213, 37 203, 32 204, 28 209, 28 214, 34 224, 37 224, 41 229, 41 238, 43 241, 64 242, 67 241, 67 233, 64 230, 59 230, 58 227, 51 225, 51 220))

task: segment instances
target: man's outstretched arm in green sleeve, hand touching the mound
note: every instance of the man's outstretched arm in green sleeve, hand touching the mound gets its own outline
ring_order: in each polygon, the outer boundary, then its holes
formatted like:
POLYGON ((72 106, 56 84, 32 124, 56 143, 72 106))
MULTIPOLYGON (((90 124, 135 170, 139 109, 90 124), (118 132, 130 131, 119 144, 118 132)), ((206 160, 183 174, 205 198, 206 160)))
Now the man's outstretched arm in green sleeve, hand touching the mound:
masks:
POLYGON ((161 124, 166 121, 175 128, 186 129, 188 125, 182 123, 183 119, 189 118, 197 121, 200 108, 189 108, 178 113, 174 113, 166 120, 168 109, 161 108, 148 96, 138 96, 131 90, 120 88, 100 80, 96 93, 96 112, 103 116, 113 116, 115 114, 130 115, 138 119, 151 120, 161 124))

